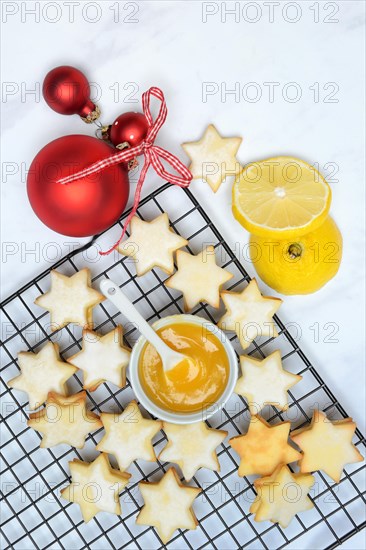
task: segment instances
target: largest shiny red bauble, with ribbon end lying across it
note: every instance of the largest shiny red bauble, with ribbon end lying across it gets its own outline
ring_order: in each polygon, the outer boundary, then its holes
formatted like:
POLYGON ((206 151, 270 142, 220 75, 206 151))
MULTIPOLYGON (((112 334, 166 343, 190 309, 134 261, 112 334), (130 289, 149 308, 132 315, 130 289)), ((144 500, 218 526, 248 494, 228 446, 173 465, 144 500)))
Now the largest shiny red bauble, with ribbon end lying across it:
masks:
POLYGON ((34 158, 27 179, 33 210, 48 227, 71 237, 95 235, 122 214, 129 194, 126 164, 61 184, 57 180, 109 157, 113 149, 96 138, 64 136, 34 158))

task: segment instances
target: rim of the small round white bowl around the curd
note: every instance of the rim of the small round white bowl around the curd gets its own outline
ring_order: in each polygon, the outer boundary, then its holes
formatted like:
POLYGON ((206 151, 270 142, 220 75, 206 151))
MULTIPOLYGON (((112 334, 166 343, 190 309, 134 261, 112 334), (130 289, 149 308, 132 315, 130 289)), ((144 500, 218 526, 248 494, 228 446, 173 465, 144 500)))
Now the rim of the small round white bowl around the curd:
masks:
POLYGON ((136 344, 132 349, 130 364, 129 364, 129 378, 130 378, 132 389, 137 399, 140 401, 141 405, 151 414, 153 414, 154 416, 156 416, 161 420, 165 420, 166 422, 172 422, 174 424, 192 424, 194 422, 206 420, 206 418, 209 418, 210 416, 217 413, 224 407, 225 403, 227 402, 227 400, 230 398, 231 394, 234 391, 234 387, 238 378, 238 360, 237 360, 234 348, 232 347, 231 342, 227 338, 227 336, 216 325, 214 325, 213 323, 210 323, 209 321, 207 321, 207 319, 203 319, 202 317, 197 317, 196 315, 183 315, 183 314, 171 315, 169 317, 164 317, 162 319, 159 319, 152 325, 152 327, 155 330, 157 330, 159 328, 163 328, 167 325, 172 325, 174 323, 188 323, 188 324, 199 325, 201 327, 203 326, 206 330, 212 332, 223 345, 229 361, 229 376, 228 376, 226 388, 224 389, 222 395, 219 397, 216 403, 214 403, 210 407, 206 407, 201 411, 196 411, 194 413, 169 412, 165 409, 162 409, 155 403, 153 403, 147 397, 147 395, 145 394, 142 388, 140 378, 139 378, 139 372, 138 372, 140 354, 144 345, 146 344, 146 339, 143 336, 140 336, 140 338, 137 340, 136 344))

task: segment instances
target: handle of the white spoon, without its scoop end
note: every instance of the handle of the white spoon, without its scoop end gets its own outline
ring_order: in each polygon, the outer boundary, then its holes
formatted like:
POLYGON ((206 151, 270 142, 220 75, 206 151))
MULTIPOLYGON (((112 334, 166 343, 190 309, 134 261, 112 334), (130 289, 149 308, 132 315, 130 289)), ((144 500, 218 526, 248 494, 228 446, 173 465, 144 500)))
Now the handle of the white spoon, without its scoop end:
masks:
POLYGON ((117 309, 131 323, 133 323, 137 330, 145 336, 146 340, 150 342, 159 353, 160 357, 166 355, 167 352, 172 352, 172 350, 167 346, 163 340, 156 334, 155 330, 151 328, 149 323, 145 321, 141 313, 136 309, 132 302, 123 294, 119 286, 114 283, 111 279, 103 279, 100 283, 100 290, 106 298, 108 298, 117 309))

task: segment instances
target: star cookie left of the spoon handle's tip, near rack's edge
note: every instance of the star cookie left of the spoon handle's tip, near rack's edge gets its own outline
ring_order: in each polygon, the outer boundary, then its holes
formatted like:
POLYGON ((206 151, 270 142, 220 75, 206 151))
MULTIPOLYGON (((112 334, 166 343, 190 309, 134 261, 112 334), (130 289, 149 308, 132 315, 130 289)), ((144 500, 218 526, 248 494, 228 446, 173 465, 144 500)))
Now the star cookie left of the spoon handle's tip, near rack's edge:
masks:
POLYGON ((92 327, 93 307, 103 300, 103 294, 91 288, 90 271, 85 268, 71 277, 51 271, 51 289, 34 303, 50 312, 52 330, 55 331, 68 323, 92 327))

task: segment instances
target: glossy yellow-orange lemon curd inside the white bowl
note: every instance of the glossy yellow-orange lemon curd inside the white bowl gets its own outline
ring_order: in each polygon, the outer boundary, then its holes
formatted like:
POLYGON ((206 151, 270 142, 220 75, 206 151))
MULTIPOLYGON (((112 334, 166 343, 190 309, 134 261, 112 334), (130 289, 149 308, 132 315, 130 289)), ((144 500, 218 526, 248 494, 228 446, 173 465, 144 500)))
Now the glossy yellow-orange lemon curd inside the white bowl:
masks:
POLYGON ((229 377, 229 359, 220 340, 204 326, 193 323, 174 323, 156 332, 188 359, 164 372, 159 354, 146 343, 138 373, 147 397, 162 409, 183 413, 213 405, 229 377))

